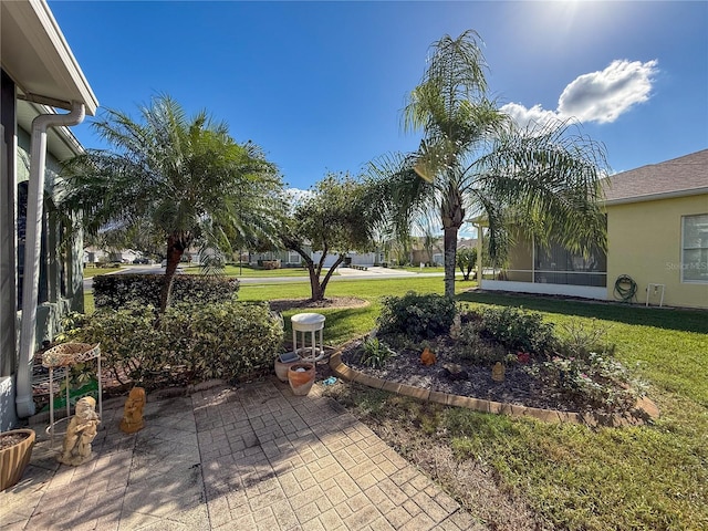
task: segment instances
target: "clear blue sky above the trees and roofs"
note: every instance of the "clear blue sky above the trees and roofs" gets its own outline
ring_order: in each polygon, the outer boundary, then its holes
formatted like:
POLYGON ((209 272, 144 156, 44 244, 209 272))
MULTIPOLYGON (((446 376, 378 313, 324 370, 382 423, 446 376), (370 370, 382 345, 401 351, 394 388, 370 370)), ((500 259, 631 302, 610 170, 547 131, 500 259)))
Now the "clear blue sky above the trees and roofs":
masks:
MULTIPOLYGON (((708 147, 708 2, 50 0, 102 107, 206 108, 306 189, 416 148, 400 129, 429 45, 476 30, 517 119, 576 116, 614 171, 708 147)), ((87 125, 72 129, 105 147, 87 125)))

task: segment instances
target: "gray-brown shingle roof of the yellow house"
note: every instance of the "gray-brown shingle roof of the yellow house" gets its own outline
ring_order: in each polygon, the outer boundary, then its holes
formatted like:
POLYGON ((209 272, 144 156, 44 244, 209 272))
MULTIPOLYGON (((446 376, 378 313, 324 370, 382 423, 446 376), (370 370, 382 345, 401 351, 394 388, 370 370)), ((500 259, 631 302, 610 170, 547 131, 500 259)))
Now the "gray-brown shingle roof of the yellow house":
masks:
POLYGON ((613 175, 603 189, 610 205, 708 194, 708 149, 613 175))

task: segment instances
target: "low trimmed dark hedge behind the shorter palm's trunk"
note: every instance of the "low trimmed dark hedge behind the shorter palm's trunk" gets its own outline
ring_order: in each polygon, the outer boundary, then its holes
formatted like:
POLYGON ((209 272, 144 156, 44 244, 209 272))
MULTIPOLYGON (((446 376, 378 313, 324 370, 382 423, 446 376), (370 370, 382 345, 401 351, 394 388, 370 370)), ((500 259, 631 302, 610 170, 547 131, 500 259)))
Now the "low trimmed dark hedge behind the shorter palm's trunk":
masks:
MULTIPOLYGON (((165 283, 163 274, 102 274, 93 278, 96 309, 118 310, 129 303, 159 306, 165 283)), ((239 281, 225 277, 177 274, 173 281, 171 303, 215 304, 236 300, 239 281)))

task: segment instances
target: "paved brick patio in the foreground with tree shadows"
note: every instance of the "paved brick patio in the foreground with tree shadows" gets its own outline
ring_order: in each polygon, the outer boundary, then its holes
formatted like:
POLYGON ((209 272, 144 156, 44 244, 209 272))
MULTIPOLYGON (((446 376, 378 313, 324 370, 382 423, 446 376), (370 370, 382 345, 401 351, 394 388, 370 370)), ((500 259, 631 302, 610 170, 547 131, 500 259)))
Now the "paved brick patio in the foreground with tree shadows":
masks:
POLYGON ((3 530, 470 530, 460 506, 313 386, 277 379, 148 403, 119 431, 107 404, 94 459, 59 465, 40 426, 3 530))

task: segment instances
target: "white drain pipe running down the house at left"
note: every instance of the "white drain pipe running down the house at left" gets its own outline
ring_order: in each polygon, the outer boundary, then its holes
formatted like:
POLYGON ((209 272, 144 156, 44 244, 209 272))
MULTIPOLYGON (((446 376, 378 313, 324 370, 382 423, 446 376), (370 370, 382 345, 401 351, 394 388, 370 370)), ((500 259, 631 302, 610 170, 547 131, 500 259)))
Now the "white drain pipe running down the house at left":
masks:
POLYGON ((37 299, 42 249, 42 209, 44 200, 44 169, 46 165, 46 129, 71 126, 84 121, 84 104, 72 102, 69 114, 41 114, 32 121, 30 181, 27 194, 27 232, 24 240, 24 281, 22 285, 22 327, 20 329, 20 360, 15 406, 18 416, 34 415, 32 399, 32 364, 37 342, 37 299))

